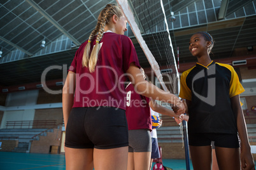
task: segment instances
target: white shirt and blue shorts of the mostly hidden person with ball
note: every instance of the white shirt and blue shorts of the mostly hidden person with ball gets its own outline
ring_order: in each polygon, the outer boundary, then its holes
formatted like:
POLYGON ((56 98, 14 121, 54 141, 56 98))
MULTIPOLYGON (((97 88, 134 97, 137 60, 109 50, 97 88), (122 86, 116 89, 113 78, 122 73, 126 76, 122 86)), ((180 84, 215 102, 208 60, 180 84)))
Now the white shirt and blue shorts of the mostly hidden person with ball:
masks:
MULTIPOLYGON (((159 117, 159 113, 155 112, 150 108, 151 115, 155 115, 159 117)), ((151 152, 151 159, 157 159, 160 158, 160 152, 159 152, 159 146, 157 141, 157 129, 152 129, 150 132, 151 138, 152 138, 152 152, 151 152)))

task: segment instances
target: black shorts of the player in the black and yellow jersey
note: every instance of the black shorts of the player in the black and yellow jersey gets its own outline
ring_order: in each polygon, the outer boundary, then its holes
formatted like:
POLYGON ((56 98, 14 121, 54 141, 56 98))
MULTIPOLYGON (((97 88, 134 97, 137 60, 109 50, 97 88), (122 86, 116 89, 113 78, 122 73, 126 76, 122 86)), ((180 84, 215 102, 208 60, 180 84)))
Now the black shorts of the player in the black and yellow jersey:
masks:
POLYGON ((239 148, 238 134, 224 133, 192 133, 188 134, 188 144, 190 146, 208 146, 214 141, 215 147, 239 148))

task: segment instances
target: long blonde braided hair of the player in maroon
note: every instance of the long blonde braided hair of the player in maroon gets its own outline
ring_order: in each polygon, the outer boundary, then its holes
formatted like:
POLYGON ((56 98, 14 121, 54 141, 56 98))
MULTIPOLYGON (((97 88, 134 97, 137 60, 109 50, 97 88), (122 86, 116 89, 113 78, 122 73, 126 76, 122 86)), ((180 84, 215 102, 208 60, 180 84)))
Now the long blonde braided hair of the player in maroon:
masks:
POLYGON ((111 17, 113 15, 117 15, 118 18, 123 16, 122 10, 119 6, 116 6, 115 4, 107 4, 106 7, 101 11, 99 14, 96 28, 92 31, 89 37, 89 41, 87 42, 87 45, 85 46, 85 50, 83 51, 83 67, 89 67, 90 72, 94 72, 96 64, 97 64, 97 58, 99 54, 99 49, 101 49, 99 45, 99 41, 101 41, 103 37, 103 32, 105 25, 110 23, 111 17), (90 54, 90 43, 94 36, 96 36, 96 44, 94 48, 92 49, 92 52, 90 54))

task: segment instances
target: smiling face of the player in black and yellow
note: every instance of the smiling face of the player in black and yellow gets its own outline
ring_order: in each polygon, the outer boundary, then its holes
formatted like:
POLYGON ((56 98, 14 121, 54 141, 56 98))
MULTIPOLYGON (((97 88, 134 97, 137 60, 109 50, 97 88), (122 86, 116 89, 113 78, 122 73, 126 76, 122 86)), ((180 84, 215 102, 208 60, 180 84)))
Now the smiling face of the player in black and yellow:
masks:
POLYGON ((206 41, 204 36, 200 33, 194 34, 189 41, 189 51, 193 56, 201 57, 209 55, 210 41, 206 41))

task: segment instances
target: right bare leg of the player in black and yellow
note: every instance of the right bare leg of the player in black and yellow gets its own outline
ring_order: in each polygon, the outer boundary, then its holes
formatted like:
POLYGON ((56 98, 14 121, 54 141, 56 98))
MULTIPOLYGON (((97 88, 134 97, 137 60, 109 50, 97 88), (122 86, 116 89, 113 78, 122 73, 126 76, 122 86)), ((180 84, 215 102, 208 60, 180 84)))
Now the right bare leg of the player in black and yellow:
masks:
POLYGON ((239 170, 240 164, 240 148, 222 148, 216 147, 216 156, 218 160, 218 167, 220 170, 239 170))

